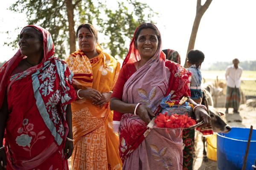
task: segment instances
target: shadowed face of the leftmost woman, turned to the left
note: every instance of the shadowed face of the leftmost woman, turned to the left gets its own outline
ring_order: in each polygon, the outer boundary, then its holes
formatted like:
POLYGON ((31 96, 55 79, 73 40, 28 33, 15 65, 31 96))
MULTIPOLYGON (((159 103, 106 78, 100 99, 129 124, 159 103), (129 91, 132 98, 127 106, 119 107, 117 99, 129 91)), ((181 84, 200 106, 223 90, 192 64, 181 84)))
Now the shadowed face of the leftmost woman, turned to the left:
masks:
POLYGON ((20 33, 18 42, 20 52, 25 56, 35 56, 41 54, 43 50, 43 42, 35 28, 26 27, 20 33))

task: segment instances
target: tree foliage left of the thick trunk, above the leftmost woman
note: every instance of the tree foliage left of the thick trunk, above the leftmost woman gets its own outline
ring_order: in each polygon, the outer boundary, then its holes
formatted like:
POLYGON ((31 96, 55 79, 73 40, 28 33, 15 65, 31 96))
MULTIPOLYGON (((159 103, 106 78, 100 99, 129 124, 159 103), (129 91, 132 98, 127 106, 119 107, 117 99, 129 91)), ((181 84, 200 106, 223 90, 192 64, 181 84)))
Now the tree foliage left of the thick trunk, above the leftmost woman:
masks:
MULTIPOLYGON (((52 35, 56 53, 63 56, 63 43, 67 37, 67 14, 65 11, 64 0, 17 0, 10 10, 15 12, 26 12, 29 25, 39 25, 46 28, 52 35)), ((18 36, 15 41, 6 43, 17 48, 18 36)))

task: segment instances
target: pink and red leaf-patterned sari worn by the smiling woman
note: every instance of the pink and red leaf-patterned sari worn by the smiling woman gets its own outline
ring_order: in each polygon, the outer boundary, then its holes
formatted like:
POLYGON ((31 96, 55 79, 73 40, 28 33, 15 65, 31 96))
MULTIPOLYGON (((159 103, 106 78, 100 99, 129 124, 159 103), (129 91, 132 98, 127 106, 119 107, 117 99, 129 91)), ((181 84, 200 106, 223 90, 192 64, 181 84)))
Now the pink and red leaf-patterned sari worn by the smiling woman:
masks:
MULTIPOLYGON (((134 41, 133 38, 123 67, 140 60, 140 54, 134 48, 134 41)), ((125 83, 122 101, 140 102, 156 113, 164 96, 171 94, 172 99, 179 99, 186 93, 190 94, 190 75, 189 71, 179 64, 165 59, 160 40, 154 56, 125 83)), ((118 78, 118 81, 121 80, 118 78)), ((119 154, 124 161, 124 170, 182 169, 180 129, 154 127, 150 130, 139 116, 124 113, 120 121, 119 142, 119 154)))

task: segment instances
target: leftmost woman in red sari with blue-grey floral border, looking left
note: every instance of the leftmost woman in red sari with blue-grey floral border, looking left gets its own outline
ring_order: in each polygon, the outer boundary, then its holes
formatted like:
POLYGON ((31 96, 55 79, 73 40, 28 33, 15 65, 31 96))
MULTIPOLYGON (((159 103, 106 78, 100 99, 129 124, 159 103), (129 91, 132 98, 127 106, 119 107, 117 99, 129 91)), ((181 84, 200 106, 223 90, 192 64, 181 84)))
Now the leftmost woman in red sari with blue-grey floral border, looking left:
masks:
POLYGON ((73 73, 44 28, 24 27, 18 45, 0 68, 0 161, 8 170, 68 170, 73 73))

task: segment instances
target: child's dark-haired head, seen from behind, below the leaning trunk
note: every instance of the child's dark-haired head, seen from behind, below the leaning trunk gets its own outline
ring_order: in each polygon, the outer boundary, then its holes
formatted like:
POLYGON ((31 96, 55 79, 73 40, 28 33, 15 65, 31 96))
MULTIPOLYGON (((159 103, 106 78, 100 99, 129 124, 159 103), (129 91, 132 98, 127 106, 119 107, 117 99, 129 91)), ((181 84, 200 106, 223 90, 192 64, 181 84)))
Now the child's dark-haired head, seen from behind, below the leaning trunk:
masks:
POLYGON ((201 66, 202 62, 204 61, 204 53, 199 50, 191 50, 188 53, 188 65, 196 65, 196 67, 201 66))

